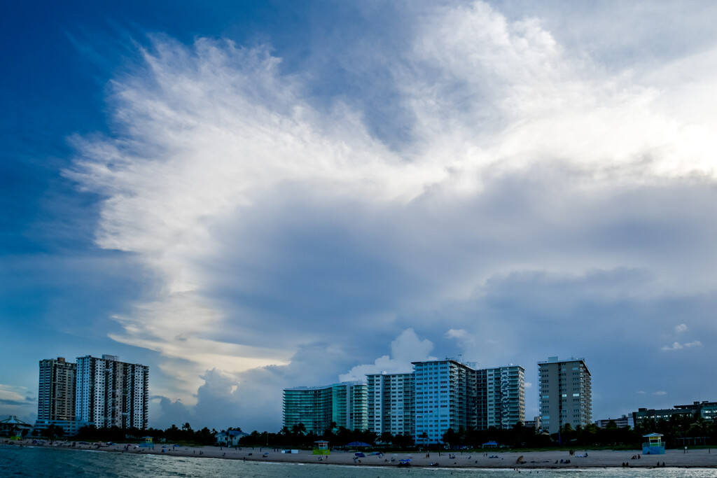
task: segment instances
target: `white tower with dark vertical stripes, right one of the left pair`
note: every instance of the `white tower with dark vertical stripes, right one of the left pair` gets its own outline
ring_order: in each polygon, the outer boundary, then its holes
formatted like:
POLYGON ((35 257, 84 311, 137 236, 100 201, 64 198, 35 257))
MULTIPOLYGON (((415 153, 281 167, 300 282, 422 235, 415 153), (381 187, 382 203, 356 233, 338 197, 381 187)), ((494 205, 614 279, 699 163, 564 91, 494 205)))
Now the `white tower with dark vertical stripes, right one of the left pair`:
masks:
POLYGON ((149 367, 120 362, 114 355, 77 358, 75 417, 98 428, 146 429, 149 367))

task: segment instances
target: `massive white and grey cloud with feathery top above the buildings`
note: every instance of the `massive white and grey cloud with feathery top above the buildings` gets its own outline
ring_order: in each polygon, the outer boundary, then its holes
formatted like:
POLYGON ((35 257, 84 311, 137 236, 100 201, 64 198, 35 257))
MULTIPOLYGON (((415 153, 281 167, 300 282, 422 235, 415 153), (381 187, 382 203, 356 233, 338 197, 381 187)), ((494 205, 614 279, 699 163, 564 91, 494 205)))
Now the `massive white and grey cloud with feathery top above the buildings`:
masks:
POLYGON ((630 324, 650 324, 636 353, 659 350, 675 316, 647 310, 673 300, 714 336, 716 125, 698 103, 716 83, 668 81, 699 58, 614 72, 482 2, 407 18, 389 77, 408 140, 316 105, 268 48, 162 36, 111 85, 113 137, 74 139, 67 174, 103 197, 98 246, 153 274, 112 338, 161 355, 158 396, 276 400, 410 361, 407 328, 437 355, 526 368, 630 324), (341 359, 285 373, 318 344, 341 359))

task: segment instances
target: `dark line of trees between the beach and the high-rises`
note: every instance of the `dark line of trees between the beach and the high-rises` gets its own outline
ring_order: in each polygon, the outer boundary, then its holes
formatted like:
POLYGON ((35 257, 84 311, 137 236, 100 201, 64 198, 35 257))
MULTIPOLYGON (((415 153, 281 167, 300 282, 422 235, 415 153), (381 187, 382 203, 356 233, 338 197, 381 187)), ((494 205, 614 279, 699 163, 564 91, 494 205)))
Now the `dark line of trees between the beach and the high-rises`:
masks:
MULTIPOLYGON (((239 427, 229 427, 227 430, 241 431, 239 427)), ((516 424, 512 429, 490 428, 487 430, 466 429, 460 427, 457 431, 448 429, 442 436, 440 444, 424 444, 427 436, 417 437, 417 442, 410 435, 391 434, 384 432, 376 434, 373 431, 360 429, 346 429, 343 426, 336 426, 332 423, 328 429, 321 434, 307 431, 304 424, 294 425, 289 429, 284 426, 277 433, 268 431, 252 431, 247 436, 239 439, 240 446, 275 446, 285 448, 310 449, 315 446, 316 441, 328 441, 333 448, 343 447, 353 441, 363 441, 371 445, 379 445, 394 449, 422 448, 443 448, 449 446, 453 449, 478 448, 488 441, 496 441, 500 446, 511 448, 549 448, 558 446, 572 446, 575 448, 592 446, 626 446, 639 448, 642 437, 650 433, 664 435, 667 446, 680 446, 684 441, 680 439, 700 438, 705 445, 717 445, 717 422, 705 420, 702 417, 673 415, 669 420, 647 421, 633 428, 617 428, 614 422, 609 422, 606 428, 601 429, 597 425, 576 426, 570 424, 561 427, 559 434, 536 433, 532 428, 526 428, 523 424, 516 424)), ((51 425, 45 430, 35 430, 33 436, 45 436, 49 439, 60 439, 63 437, 62 428, 51 425)), ((172 425, 168 429, 145 429, 136 428, 120 429, 117 426, 110 428, 96 428, 95 426, 83 426, 80 432, 73 436, 77 441, 139 441, 143 436, 151 436, 153 441, 182 442, 185 444, 214 445, 217 443, 217 430, 202 429, 194 430, 189 423, 182 426, 172 425)))

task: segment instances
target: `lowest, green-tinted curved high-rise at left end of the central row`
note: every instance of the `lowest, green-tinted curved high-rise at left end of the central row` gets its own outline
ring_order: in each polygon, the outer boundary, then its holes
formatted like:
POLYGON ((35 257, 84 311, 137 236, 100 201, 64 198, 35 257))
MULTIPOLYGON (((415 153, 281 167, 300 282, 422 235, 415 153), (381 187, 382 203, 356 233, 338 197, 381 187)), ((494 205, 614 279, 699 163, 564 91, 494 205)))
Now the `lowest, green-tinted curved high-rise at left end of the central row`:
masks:
POLYGON ((366 383, 342 382, 324 387, 284 389, 284 426, 303 424, 306 431, 323 434, 331 423, 347 429, 368 428, 366 383))

